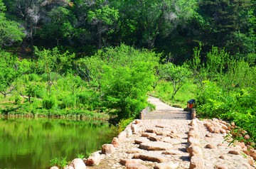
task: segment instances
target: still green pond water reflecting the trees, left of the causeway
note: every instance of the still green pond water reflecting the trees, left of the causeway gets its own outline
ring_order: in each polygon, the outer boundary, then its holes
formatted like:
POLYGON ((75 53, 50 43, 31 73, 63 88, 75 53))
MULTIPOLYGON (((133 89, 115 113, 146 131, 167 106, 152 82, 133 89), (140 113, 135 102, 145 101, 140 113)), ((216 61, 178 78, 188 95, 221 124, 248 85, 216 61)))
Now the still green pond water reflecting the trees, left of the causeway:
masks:
POLYGON ((0 118, 0 168, 50 168, 50 159, 100 150, 116 136, 105 121, 0 118))

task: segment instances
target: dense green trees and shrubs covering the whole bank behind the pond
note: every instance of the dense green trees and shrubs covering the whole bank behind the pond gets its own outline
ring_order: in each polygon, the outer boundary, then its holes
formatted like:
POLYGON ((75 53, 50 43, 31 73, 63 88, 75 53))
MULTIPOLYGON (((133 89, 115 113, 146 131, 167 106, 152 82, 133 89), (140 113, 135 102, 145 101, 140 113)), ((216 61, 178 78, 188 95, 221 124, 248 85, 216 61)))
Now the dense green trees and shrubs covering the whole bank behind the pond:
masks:
POLYGON ((256 141, 255 13, 255 0, 0 0, 0 113, 122 126, 154 109, 148 94, 193 98, 256 141))

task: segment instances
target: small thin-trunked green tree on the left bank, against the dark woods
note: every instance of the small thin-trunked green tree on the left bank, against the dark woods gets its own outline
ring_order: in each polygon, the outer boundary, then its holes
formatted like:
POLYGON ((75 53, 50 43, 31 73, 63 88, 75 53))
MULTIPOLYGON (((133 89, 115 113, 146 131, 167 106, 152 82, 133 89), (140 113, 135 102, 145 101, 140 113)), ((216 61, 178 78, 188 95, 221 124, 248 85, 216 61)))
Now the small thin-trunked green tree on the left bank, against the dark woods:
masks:
POLYGON ((46 88, 50 93, 52 85, 57 89, 54 84, 56 77, 60 73, 60 70, 63 70, 63 67, 70 65, 71 59, 75 57, 75 53, 70 54, 68 50, 65 53, 60 53, 57 47, 53 48, 53 50, 43 49, 40 51, 38 48, 35 49, 35 54, 38 56, 38 68, 46 72, 48 76, 46 88))

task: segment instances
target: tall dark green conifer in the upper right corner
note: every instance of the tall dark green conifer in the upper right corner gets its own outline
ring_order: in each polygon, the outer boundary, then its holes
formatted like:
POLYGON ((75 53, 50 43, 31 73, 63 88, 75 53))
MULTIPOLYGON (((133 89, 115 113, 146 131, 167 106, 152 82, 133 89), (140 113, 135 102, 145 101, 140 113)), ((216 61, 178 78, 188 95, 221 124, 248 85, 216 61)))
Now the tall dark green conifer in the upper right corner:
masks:
MULTIPOLYGON (((219 48, 233 43, 235 33, 241 30, 247 19, 250 0, 207 0, 199 3, 199 13, 203 17, 201 41, 210 48, 219 48), (206 40, 207 39, 207 40, 206 40)), ((235 46, 229 51, 233 52, 235 46)))

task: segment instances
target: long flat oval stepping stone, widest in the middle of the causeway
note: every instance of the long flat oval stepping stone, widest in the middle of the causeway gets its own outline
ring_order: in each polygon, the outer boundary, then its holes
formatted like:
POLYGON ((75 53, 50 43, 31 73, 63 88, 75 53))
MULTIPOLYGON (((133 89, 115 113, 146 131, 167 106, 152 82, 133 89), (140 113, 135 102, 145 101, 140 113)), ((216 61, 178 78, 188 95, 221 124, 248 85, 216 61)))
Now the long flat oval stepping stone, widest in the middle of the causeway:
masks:
POLYGON ((171 143, 164 143, 162 141, 146 142, 139 144, 139 148, 147 151, 168 151, 173 148, 171 143))

